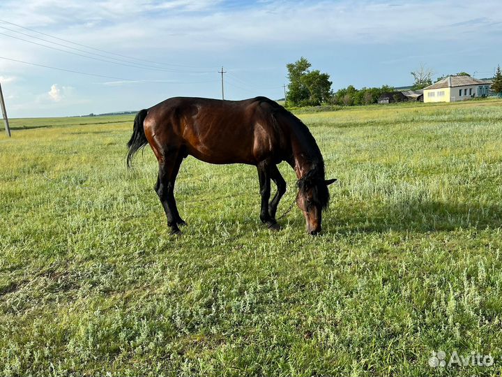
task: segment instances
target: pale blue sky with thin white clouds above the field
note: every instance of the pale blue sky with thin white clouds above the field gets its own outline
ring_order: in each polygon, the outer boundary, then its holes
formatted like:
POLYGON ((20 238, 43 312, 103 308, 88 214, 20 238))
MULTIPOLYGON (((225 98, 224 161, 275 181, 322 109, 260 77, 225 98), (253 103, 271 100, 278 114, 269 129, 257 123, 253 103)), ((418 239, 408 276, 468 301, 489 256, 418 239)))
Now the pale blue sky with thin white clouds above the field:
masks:
POLYGON ((221 98, 222 67, 225 99, 279 99, 301 57, 334 91, 411 84, 420 65, 491 77, 501 35, 500 0, 0 0, 0 84, 9 117, 221 98))

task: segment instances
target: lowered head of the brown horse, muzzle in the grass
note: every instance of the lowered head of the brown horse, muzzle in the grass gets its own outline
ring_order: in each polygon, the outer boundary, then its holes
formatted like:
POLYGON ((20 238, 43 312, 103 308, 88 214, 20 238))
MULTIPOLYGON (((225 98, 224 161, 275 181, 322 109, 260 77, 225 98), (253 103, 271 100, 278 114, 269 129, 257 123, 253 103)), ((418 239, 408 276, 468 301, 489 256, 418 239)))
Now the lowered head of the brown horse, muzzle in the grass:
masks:
POLYGON ((315 170, 298 179, 298 195, 296 205, 303 212, 307 223, 307 232, 317 235, 321 232, 321 217, 323 209, 329 205, 328 186, 336 179, 324 179, 324 174, 318 174, 315 170))

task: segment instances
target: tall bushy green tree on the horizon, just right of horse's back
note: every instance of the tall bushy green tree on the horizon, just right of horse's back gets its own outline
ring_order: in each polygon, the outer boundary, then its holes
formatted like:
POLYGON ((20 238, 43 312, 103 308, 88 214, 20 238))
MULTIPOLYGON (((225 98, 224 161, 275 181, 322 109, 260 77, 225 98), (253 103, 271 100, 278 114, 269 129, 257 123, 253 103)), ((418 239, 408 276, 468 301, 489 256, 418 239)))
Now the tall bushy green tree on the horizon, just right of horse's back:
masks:
POLYGON ((319 70, 310 71, 311 66, 304 57, 286 65, 289 79, 287 105, 320 105, 333 95, 330 75, 319 70))

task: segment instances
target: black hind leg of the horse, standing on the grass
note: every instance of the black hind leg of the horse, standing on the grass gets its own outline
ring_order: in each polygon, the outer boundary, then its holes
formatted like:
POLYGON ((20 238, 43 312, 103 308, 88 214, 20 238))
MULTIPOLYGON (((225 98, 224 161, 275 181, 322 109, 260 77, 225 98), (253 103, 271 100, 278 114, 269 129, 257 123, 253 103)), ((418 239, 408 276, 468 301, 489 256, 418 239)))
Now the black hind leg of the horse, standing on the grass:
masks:
POLYGON ((176 200, 174 200, 174 182, 176 175, 183 161, 183 156, 178 149, 173 151, 165 151, 162 158, 159 159, 159 172, 155 191, 158 194, 162 207, 164 207, 167 216, 167 225, 171 228, 171 234, 181 234, 178 224, 184 224, 181 219, 176 200))

